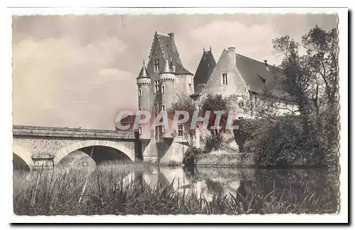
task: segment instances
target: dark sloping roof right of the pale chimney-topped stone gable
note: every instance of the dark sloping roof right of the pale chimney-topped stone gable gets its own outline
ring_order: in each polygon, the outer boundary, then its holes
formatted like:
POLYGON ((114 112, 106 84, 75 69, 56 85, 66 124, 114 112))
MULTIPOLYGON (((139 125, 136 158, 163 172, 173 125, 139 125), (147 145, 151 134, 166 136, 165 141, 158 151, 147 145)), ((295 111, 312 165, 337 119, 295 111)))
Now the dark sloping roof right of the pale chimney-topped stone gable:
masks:
POLYGON ((236 54, 236 67, 249 85, 249 91, 255 93, 263 93, 265 84, 273 81, 280 74, 276 67, 241 54, 236 54))

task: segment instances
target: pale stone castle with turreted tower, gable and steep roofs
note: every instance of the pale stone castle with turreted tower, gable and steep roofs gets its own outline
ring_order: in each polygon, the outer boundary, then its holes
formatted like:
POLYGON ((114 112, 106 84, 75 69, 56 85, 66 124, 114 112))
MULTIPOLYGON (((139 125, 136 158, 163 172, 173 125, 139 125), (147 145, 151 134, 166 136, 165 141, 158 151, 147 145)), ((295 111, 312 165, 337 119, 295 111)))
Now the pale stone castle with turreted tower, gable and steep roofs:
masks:
MULTIPOLYGON (((190 96, 195 108, 202 108, 204 97, 208 94, 236 96, 234 113, 238 119, 253 117, 245 113, 244 103, 247 99, 256 101, 263 94, 263 88, 271 85, 274 79, 282 77, 277 68, 267 61, 255 59, 236 53, 235 47, 224 49, 218 61, 214 60, 212 48, 203 50, 196 74, 185 69, 180 59, 178 47, 175 45, 174 33, 160 34, 155 32, 148 63, 143 67, 136 79, 138 86, 138 111, 151 113, 155 120, 161 111, 167 111, 179 96, 190 96)), ((278 103, 278 114, 290 113, 295 108, 292 100, 275 90, 269 100, 278 103)), ((189 144, 182 134, 182 127, 166 130, 163 125, 152 122, 139 126, 141 140, 141 156, 143 161, 155 163, 181 163, 189 144)), ((199 128, 200 129, 200 128, 199 128)), ((200 133, 194 137, 196 146, 200 146, 200 133)), ((233 138, 227 146, 238 149, 233 138)))

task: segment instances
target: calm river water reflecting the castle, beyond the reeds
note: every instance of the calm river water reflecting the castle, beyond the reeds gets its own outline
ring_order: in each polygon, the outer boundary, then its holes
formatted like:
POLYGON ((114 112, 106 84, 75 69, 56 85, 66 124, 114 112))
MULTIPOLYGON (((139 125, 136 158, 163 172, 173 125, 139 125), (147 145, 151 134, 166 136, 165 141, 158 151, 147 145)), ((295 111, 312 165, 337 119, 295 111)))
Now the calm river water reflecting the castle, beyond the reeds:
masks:
MULTIPOLYGON (((248 195, 258 192, 268 195, 283 192, 296 197, 304 192, 329 197, 337 203, 337 175, 325 169, 275 170, 253 168, 153 168, 143 171, 143 181, 153 188, 171 185, 182 193, 212 200, 213 195, 248 195)), ((285 197, 287 198, 287 197, 285 197)))

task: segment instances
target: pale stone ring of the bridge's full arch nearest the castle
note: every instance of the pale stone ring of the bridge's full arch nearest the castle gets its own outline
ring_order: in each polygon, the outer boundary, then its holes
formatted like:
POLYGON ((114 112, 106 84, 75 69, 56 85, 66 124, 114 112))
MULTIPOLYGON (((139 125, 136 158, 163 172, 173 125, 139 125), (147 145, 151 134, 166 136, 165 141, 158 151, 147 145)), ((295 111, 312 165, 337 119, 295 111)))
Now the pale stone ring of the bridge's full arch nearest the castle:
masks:
POLYGON ((74 144, 70 144, 68 146, 63 147, 60 149, 57 154, 55 154, 55 158, 53 159, 54 164, 58 164, 60 160, 62 160, 65 156, 72 153, 75 150, 82 149, 89 146, 107 146, 113 149, 121 151, 123 154, 129 157, 133 162, 135 159, 135 154, 132 149, 129 147, 124 146, 124 144, 120 144, 119 142, 112 142, 106 140, 87 140, 81 142, 75 142, 74 144))

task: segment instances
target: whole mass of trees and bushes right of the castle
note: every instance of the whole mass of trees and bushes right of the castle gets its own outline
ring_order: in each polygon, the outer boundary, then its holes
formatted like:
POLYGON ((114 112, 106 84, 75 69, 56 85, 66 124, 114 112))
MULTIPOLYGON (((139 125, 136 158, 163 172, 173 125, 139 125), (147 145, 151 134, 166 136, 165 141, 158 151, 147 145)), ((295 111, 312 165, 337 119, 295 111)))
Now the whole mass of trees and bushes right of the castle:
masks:
MULTIPOLYGON (((277 86, 294 101, 299 115, 275 116, 269 110, 273 105, 264 103, 257 109, 251 98, 244 103, 244 110, 259 119, 239 121, 237 139, 253 141, 258 152, 256 160, 262 165, 277 161, 336 165, 337 30, 326 31, 316 26, 302 36, 300 43, 288 35, 272 42, 283 58, 277 67, 282 74, 273 87, 277 86)), ((263 96, 270 98, 272 92, 266 90, 263 96)))

